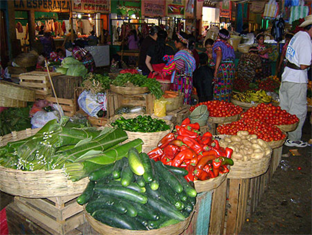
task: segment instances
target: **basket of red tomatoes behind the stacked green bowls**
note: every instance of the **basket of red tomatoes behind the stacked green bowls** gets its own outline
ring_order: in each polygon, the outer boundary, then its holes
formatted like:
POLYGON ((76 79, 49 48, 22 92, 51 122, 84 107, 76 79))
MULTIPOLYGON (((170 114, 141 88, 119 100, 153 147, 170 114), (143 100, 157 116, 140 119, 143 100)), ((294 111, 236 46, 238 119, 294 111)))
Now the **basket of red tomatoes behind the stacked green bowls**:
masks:
POLYGON ((219 100, 200 102, 197 105, 191 106, 190 111, 192 112, 199 105, 207 106, 207 110, 209 111, 208 120, 213 123, 227 123, 236 121, 240 118, 240 114, 243 111, 243 109, 239 106, 219 100))

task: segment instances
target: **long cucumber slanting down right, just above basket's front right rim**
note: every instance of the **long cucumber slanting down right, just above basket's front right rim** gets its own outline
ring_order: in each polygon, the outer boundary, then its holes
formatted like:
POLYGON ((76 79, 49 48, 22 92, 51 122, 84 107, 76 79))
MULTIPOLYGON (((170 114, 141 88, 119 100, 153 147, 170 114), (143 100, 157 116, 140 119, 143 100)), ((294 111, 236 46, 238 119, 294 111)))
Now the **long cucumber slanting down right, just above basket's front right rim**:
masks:
POLYGON ((178 220, 184 220, 185 217, 183 214, 178 211, 174 206, 168 204, 167 202, 163 202, 160 199, 157 199, 155 197, 147 196, 148 198, 148 205, 153 207, 154 209, 158 210, 159 212, 165 214, 169 218, 178 219, 178 220))

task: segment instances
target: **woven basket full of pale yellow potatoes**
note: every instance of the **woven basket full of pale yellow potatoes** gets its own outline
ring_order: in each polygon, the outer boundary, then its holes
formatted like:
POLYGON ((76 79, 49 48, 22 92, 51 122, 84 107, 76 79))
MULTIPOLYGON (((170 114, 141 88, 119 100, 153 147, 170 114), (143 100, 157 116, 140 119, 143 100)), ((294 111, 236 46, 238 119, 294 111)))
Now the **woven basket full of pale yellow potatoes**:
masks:
POLYGON ((247 179, 262 175, 270 165, 271 148, 264 140, 248 131, 238 131, 237 135, 223 135, 220 146, 233 149, 234 165, 228 173, 229 179, 247 179))

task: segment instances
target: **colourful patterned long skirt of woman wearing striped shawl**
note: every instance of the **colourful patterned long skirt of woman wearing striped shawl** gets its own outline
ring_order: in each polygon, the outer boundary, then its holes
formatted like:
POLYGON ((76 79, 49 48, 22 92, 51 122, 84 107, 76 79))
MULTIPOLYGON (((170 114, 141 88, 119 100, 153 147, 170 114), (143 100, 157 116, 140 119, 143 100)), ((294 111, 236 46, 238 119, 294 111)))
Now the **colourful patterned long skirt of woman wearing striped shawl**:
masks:
POLYGON ((180 91, 185 94, 183 104, 191 104, 192 88, 192 77, 186 76, 185 74, 175 74, 173 80, 173 90, 180 91))

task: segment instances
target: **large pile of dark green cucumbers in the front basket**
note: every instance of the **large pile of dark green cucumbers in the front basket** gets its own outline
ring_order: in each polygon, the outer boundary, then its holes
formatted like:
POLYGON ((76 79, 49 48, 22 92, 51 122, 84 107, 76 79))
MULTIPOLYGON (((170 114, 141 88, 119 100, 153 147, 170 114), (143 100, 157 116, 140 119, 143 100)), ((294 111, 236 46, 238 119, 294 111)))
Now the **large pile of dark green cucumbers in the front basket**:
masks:
POLYGON ((128 158, 94 171, 77 198, 96 220, 111 227, 150 230, 183 221, 193 211, 196 191, 185 169, 164 166, 131 148, 128 158))

